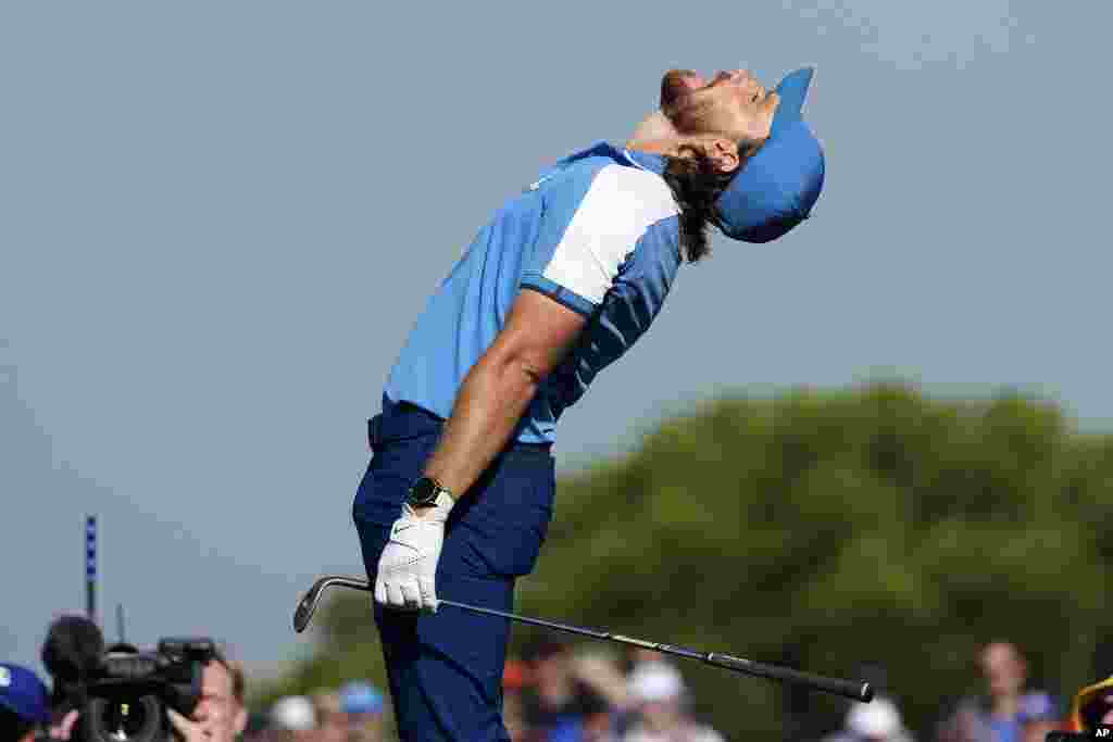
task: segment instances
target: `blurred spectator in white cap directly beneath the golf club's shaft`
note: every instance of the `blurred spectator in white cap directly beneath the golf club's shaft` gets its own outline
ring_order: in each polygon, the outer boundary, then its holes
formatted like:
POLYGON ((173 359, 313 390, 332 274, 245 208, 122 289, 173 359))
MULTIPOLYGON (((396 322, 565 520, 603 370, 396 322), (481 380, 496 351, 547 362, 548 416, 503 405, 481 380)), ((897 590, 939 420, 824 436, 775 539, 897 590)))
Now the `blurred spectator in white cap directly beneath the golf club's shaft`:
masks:
POLYGON ((636 716, 623 742, 722 742, 689 715, 683 679, 671 664, 639 662, 630 673, 629 694, 636 716))

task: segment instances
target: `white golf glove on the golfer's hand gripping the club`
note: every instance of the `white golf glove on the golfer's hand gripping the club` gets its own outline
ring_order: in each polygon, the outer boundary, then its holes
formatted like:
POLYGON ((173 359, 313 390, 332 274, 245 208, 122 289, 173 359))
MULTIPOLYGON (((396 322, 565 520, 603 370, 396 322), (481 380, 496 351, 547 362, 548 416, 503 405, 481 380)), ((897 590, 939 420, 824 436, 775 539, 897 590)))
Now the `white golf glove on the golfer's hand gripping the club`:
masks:
POLYGON ((375 602, 392 609, 436 613, 436 563, 452 497, 440 494, 436 506, 417 517, 408 503, 391 526, 391 540, 378 557, 375 602))

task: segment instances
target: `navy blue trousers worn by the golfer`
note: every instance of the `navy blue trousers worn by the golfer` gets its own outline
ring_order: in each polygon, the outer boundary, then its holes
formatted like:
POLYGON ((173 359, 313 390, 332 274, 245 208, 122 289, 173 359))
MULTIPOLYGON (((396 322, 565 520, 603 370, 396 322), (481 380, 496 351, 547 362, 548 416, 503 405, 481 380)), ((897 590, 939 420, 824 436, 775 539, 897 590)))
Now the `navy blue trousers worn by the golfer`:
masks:
MULTIPOLYGON (((386 398, 368 425, 373 454, 352 514, 372 582, 441 426, 440 418, 386 398)), ((514 581, 536 563, 554 492, 548 445, 503 452, 452 508, 437 597, 513 610, 514 581)), ((501 714, 509 621, 450 606, 415 614, 375 604, 374 614, 403 742, 509 742, 501 714)))

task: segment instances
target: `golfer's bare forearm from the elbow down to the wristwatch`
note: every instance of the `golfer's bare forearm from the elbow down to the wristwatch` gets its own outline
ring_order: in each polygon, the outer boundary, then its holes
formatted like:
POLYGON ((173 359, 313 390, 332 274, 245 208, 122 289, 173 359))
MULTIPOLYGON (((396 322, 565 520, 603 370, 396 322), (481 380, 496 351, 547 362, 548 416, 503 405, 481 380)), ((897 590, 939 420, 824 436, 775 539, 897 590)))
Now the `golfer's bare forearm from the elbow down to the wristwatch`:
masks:
POLYGON ((464 495, 510 442, 539 379, 513 360, 481 359, 464 378, 424 473, 464 495))

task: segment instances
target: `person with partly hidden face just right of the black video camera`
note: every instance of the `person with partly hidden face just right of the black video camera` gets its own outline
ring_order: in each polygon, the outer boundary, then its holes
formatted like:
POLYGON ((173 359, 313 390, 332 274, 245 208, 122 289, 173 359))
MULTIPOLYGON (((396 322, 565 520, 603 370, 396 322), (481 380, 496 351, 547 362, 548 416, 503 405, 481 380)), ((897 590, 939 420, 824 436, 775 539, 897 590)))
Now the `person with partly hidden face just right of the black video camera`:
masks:
POLYGON ((170 722, 184 742, 235 742, 247 726, 245 692, 243 667, 218 652, 201 672, 201 700, 194 713, 187 719, 170 709, 170 722))

